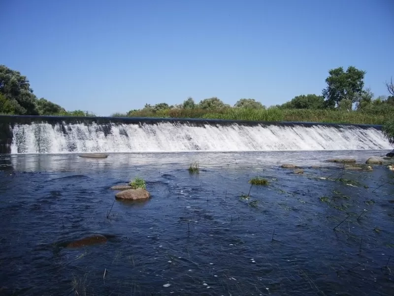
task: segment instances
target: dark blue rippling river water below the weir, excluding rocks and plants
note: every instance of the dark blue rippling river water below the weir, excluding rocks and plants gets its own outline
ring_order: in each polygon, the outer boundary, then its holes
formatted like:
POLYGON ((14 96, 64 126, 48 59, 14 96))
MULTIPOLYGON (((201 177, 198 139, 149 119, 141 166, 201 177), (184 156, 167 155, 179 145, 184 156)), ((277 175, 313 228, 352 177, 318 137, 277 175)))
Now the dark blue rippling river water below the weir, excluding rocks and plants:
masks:
POLYGON ((393 172, 324 161, 384 153, 1 155, 0 294, 393 295, 393 172), (257 175, 270 185, 250 189, 257 175), (151 199, 115 200, 109 187, 135 176, 151 199), (334 195, 349 199, 320 200, 334 195), (92 234, 109 240, 62 248, 92 234))

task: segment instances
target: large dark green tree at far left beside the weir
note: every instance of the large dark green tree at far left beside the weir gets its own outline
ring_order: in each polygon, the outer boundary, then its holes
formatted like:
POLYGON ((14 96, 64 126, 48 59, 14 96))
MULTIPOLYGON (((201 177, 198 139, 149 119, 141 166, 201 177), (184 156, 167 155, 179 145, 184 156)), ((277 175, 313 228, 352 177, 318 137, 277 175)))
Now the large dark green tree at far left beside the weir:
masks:
POLYGON ((38 115, 36 97, 27 77, 4 65, 0 65, 0 94, 13 106, 15 114, 38 115))

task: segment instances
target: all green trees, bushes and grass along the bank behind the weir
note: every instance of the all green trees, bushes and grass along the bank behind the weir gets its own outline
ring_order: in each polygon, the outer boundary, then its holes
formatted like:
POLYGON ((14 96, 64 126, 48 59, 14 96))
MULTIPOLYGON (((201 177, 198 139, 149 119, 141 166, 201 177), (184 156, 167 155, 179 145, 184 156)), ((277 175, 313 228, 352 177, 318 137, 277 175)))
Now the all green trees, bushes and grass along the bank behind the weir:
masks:
MULTIPOLYGON (((352 66, 346 71, 342 67, 331 69, 321 95, 298 95, 268 108, 255 99, 240 99, 230 106, 217 97, 198 103, 189 97, 179 105, 146 104, 143 109, 112 116, 385 124, 394 118, 393 80, 386 82, 388 96, 375 97, 364 88, 364 75, 352 66)), ((2 65, 0 114, 95 116, 89 111, 66 111, 44 98, 38 99, 26 76, 2 65)), ((390 129, 391 125, 386 125, 390 129)))

